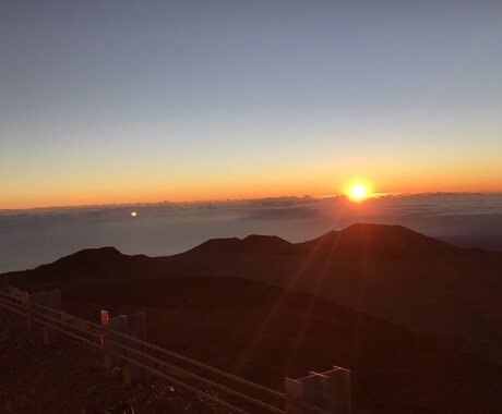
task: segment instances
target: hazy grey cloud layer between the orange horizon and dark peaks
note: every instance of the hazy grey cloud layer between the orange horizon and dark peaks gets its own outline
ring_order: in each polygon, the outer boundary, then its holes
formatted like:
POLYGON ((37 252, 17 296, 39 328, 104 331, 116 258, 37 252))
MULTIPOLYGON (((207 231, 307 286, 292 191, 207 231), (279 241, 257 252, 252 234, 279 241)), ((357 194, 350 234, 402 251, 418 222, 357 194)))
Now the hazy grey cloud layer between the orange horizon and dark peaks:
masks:
POLYGON ((215 238, 314 239, 355 222, 402 224, 459 245, 502 251, 502 194, 344 196, 0 210, 0 272, 82 248, 166 256, 215 238), (131 215, 132 211, 136 216, 131 215))

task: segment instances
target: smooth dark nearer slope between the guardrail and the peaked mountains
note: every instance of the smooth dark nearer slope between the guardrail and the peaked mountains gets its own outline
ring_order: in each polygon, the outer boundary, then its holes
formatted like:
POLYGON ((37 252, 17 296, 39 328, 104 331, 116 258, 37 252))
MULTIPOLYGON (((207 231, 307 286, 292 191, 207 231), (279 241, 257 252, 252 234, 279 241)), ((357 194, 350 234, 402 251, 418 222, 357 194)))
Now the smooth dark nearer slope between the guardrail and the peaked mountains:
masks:
POLYGON ((499 413, 502 368, 310 294, 239 278, 109 280, 63 288, 97 320, 146 313, 153 343, 258 383, 332 365, 352 372, 355 413, 499 413))

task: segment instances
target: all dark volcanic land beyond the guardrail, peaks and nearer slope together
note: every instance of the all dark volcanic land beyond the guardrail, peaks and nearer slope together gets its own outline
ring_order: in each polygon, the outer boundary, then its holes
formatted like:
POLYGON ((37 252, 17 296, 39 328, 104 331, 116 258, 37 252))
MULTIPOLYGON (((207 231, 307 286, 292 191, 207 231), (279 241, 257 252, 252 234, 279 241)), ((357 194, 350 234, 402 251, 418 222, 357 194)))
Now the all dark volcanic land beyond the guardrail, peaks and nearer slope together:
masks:
POLYGON ((357 224, 163 258, 87 249, 9 276, 86 318, 142 309, 152 342, 277 389, 344 366, 357 412, 500 413, 501 269, 498 253, 357 224))

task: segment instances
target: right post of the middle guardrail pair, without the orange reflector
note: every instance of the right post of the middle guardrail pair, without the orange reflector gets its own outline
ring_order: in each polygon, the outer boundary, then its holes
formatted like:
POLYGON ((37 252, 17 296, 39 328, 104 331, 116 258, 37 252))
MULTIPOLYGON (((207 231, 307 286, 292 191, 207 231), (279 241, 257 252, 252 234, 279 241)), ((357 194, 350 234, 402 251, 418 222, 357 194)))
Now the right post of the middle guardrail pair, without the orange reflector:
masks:
MULTIPOLYGON (((145 314, 144 312, 139 312, 128 316, 128 336, 139 339, 141 341, 146 340, 146 328, 145 328, 145 314)), ((127 346, 144 353, 145 346, 143 343, 128 340, 127 346)), ((144 357, 136 352, 127 351, 127 356, 131 360, 134 360, 141 364, 144 364, 144 357)), ((141 366, 134 365, 129 361, 123 363, 123 380, 125 383, 133 385, 139 382, 144 382, 146 373, 141 366)))

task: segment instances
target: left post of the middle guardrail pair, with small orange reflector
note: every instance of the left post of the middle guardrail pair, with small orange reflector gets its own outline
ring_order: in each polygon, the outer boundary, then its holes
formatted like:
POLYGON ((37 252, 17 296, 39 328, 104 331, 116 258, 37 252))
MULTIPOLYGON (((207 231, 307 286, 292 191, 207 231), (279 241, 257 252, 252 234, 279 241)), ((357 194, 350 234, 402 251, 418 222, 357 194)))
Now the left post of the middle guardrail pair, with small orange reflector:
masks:
POLYGON ((105 353, 105 366, 109 369, 121 367, 123 364, 122 355, 124 350, 120 344, 124 344, 125 339, 115 332, 125 334, 128 329, 128 317, 125 315, 108 318, 108 313, 101 310, 101 324, 104 324, 103 349, 105 353), (106 316, 105 316, 106 315, 106 316), (105 319, 104 319, 105 316, 105 319), (115 342, 116 344, 111 343, 115 342))

